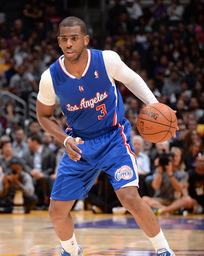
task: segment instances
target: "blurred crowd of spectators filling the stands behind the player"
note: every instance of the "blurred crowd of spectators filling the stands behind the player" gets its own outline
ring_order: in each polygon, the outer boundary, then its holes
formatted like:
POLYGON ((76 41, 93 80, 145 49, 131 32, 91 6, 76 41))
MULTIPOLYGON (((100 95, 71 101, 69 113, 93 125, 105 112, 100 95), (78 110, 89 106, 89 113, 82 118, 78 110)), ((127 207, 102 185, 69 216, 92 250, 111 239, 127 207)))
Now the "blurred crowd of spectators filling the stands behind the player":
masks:
MULTIPOLYGON (((1 6, 0 6, 1 7, 1 6)), ((69 13, 69 15, 72 15, 69 13)), ((61 56, 58 24, 67 14, 57 1, 25 1, 21 15, 8 23, 0 8, 0 92, 28 100, 38 92, 42 72, 61 56)), ((139 193, 155 214, 202 213, 204 207, 204 3, 182 5, 162 0, 109 1, 107 34, 91 38, 90 49, 112 50, 146 82, 159 102, 176 110, 179 130, 164 143, 145 141, 137 130, 143 102, 116 81, 131 123, 138 162, 139 193), (163 159, 167 160, 163 164, 163 159)), ((66 129, 60 108, 55 115, 66 129)), ((0 93, 0 212, 12 212, 22 191, 25 212, 48 209, 50 191, 65 147, 41 129, 28 129, 12 100, 0 93), (8 134, 7 131, 10 131, 8 134)), ((89 197, 74 210, 126 213, 101 171, 89 197), (111 195, 111 196, 110 196, 111 195)))

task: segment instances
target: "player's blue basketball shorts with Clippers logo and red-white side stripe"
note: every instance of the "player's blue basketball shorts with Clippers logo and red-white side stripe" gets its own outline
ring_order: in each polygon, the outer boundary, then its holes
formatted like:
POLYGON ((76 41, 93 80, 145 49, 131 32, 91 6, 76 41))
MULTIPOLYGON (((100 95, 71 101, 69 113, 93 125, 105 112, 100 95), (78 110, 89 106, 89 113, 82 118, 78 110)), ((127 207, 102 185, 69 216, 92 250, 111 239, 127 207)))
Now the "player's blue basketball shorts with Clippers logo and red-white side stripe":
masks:
POLYGON ((130 135, 131 126, 122 119, 116 129, 94 139, 82 138, 84 144, 77 162, 62 156, 51 199, 71 201, 87 197, 100 171, 107 172, 114 190, 138 185, 138 166, 130 135))

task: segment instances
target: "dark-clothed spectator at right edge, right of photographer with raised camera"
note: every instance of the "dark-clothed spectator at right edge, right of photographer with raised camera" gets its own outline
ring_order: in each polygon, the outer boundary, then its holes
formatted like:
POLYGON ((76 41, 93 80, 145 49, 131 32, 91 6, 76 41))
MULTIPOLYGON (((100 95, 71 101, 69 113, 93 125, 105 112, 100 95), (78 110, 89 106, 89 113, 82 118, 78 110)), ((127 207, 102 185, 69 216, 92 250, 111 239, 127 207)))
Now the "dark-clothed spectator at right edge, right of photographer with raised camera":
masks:
POLYGON ((189 153, 185 154, 186 170, 196 167, 195 160, 199 152, 203 152, 203 143, 200 138, 195 139, 194 141, 192 141, 192 143, 190 143, 189 153))

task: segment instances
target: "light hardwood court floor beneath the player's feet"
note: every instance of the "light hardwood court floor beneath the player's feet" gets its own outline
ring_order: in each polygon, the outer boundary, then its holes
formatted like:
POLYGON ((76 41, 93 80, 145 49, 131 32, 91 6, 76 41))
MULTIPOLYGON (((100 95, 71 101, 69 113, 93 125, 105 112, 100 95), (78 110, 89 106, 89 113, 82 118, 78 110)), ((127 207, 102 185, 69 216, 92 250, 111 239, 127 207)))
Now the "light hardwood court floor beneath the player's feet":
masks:
MULTIPOLYGON (((83 255, 155 256, 130 214, 72 212, 83 255)), ((204 256, 204 215, 161 216, 159 224, 176 256, 204 256)), ((59 256, 60 245, 47 211, 0 215, 0 255, 59 256)))

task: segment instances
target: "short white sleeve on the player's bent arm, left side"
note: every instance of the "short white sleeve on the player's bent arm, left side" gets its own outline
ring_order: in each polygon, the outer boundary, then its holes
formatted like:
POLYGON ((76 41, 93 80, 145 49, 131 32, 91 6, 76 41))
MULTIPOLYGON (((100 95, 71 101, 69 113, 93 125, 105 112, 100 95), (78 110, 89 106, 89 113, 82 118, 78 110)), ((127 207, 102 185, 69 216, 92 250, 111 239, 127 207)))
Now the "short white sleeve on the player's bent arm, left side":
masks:
POLYGON ((42 73, 37 100, 49 106, 56 104, 56 94, 49 69, 42 73))

